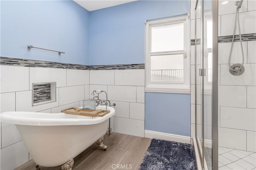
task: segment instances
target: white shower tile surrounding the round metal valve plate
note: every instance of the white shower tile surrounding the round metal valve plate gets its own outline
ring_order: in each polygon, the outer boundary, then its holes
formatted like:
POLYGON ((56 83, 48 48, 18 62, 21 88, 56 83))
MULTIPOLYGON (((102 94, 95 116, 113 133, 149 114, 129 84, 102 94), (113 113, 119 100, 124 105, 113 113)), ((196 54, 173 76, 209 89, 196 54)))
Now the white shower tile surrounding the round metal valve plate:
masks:
POLYGON ((256 64, 244 64, 245 71, 242 75, 230 74, 228 64, 220 65, 220 85, 256 85, 256 64), (254 73, 254 74, 253 74, 254 73))

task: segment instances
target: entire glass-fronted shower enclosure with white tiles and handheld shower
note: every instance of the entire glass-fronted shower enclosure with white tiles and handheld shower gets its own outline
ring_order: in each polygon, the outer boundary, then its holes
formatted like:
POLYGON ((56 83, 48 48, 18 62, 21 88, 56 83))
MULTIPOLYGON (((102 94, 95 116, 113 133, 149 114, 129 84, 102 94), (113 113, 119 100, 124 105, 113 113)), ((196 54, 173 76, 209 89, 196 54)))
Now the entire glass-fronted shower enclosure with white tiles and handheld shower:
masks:
POLYGON ((255 25, 256 8, 246 10, 253 2, 191 1, 195 18, 194 33, 191 33, 195 37, 195 85, 191 86, 194 87, 191 90, 195 91, 192 95, 195 101, 193 142, 198 148, 200 166, 205 170, 256 168, 255 61, 242 61, 244 72, 241 69, 240 74, 234 74, 229 69, 229 65, 238 65, 243 55, 246 58, 246 51, 247 58, 255 60, 256 38, 240 38, 256 36, 255 29, 244 30, 250 23, 255 25), (241 6, 244 11, 239 16, 238 8, 241 6), (234 25, 238 27, 239 24, 235 22, 236 15, 240 18, 242 35, 239 35, 239 29, 233 31, 234 25), (230 52, 232 37, 238 40, 234 42, 237 46, 233 48, 236 49, 233 54, 230 52), (230 59, 230 55, 237 59, 230 59))

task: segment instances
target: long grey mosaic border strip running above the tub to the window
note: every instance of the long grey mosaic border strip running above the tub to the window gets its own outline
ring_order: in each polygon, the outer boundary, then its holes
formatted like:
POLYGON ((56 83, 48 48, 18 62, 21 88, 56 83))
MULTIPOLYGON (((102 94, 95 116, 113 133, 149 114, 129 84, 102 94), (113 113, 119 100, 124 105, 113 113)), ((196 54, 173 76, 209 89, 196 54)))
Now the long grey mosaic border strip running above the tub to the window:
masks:
POLYGON ((69 63, 57 63, 51 61, 39 61, 32 59, 19 59, 0 57, 1 65, 21 67, 45 67, 59 69, 82 69, 82 70, 114 70, 114 69, 145 69, 145 64, 119 64, 119 65, 79 65, 69 63))

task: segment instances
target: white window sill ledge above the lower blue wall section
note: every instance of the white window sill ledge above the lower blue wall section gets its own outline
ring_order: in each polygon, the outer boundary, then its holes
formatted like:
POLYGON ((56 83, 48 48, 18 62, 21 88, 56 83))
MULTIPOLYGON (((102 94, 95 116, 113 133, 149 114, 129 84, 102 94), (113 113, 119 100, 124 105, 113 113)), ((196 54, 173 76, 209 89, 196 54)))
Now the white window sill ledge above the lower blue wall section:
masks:
POLYGON ((145 92, 190 94, 190 87, 145 87, 145 92))

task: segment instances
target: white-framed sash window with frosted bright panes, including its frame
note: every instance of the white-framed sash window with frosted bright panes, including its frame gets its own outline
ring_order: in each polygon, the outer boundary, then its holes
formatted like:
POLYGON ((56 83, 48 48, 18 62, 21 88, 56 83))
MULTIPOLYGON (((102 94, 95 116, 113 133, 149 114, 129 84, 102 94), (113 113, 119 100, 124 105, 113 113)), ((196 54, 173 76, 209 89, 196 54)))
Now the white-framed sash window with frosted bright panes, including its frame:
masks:
POLYGON ((187 16, 146 22, 147 92, 190 93, 187 16))

